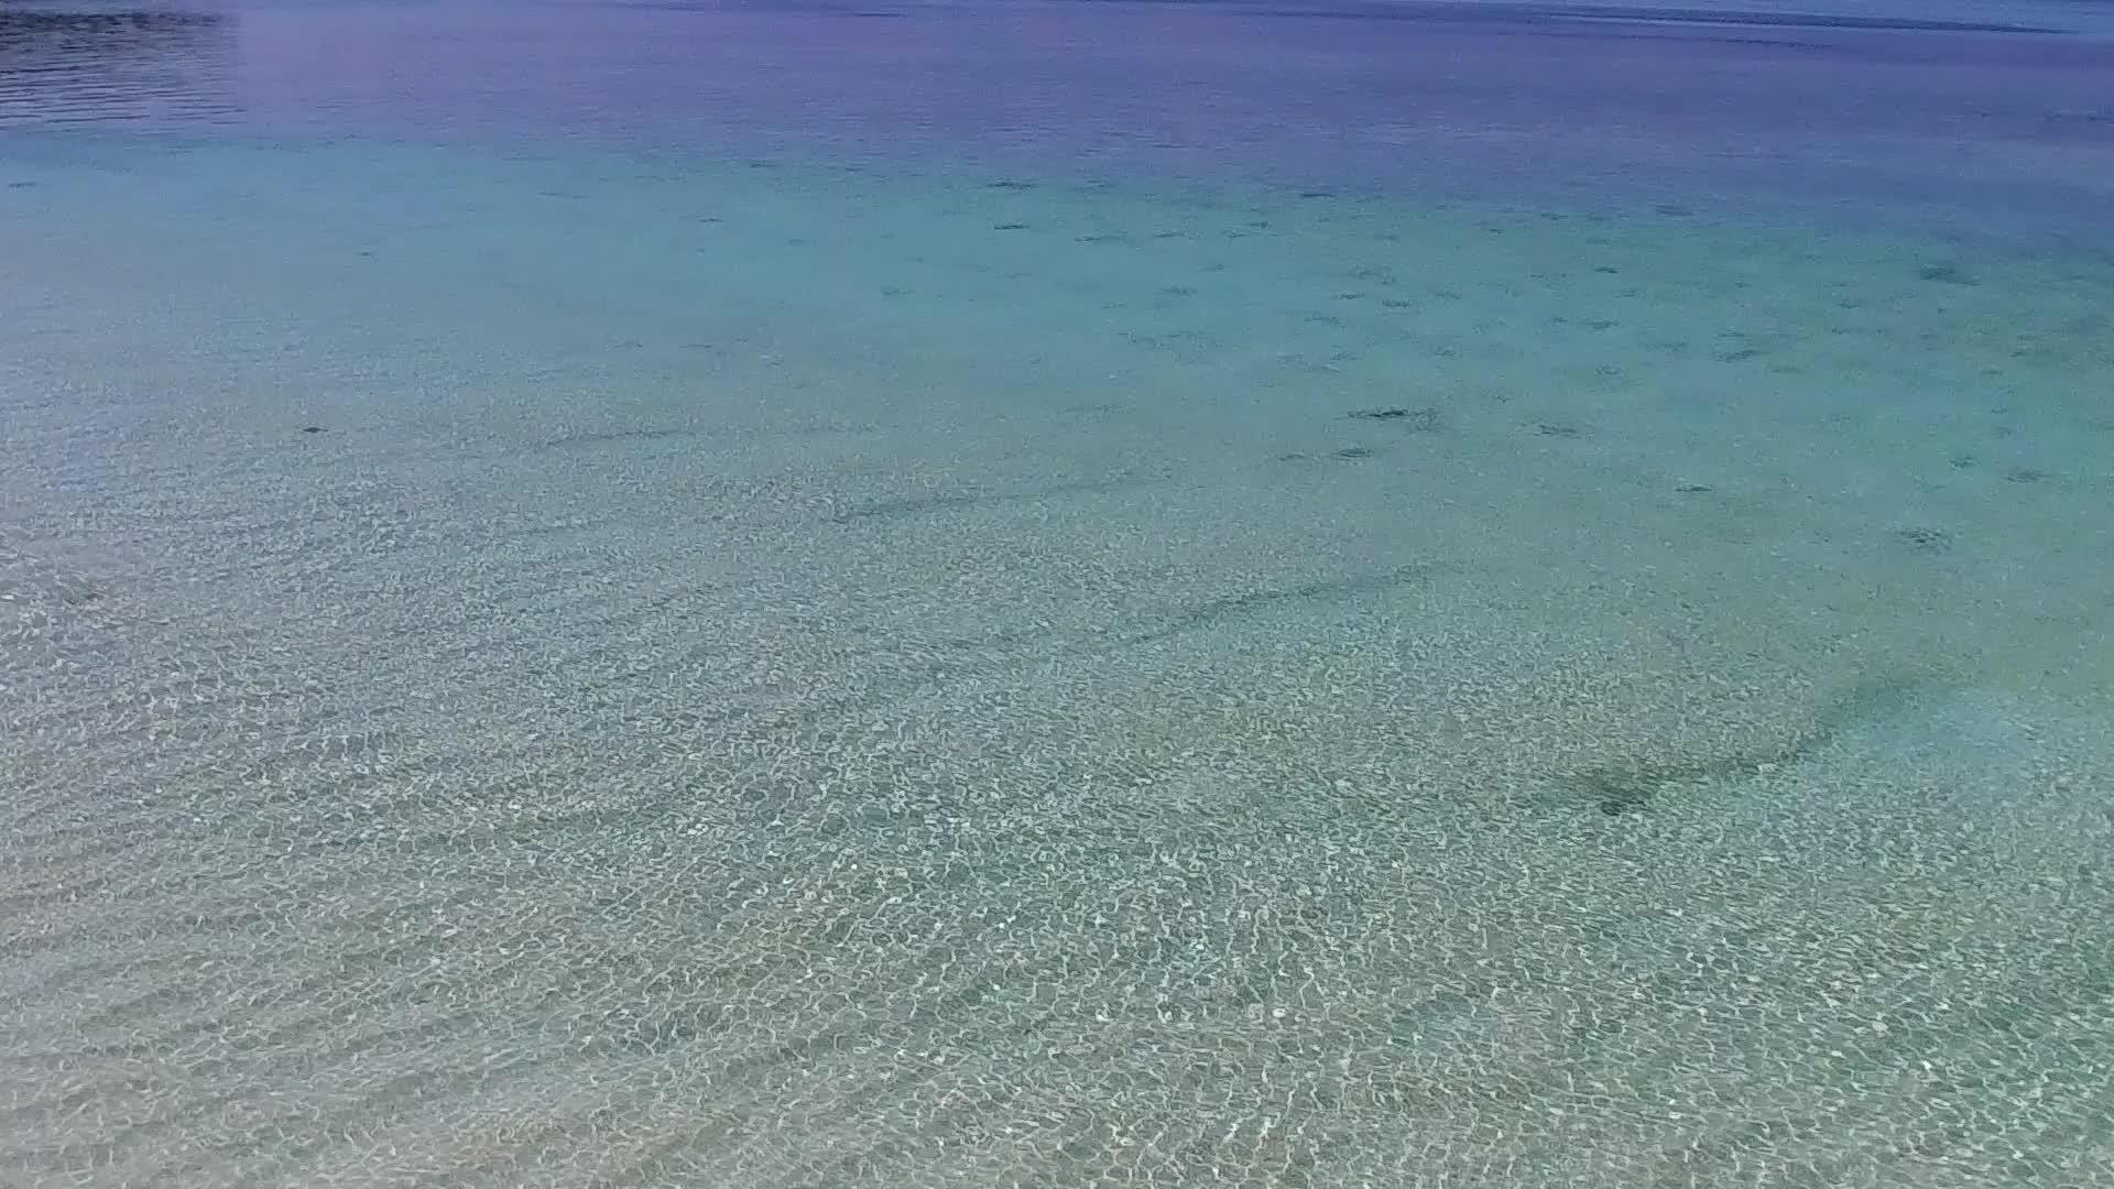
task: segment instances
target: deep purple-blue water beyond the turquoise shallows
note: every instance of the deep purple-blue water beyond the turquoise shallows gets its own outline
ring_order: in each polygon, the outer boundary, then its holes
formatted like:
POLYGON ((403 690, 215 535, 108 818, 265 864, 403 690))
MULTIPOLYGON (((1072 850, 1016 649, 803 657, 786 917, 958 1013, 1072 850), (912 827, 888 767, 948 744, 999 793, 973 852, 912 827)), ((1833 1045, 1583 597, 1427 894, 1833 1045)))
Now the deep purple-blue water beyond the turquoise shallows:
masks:
POLYGON ((0 125, 772 152, 2093 237, 2103 4, 13 4, 0 125))

